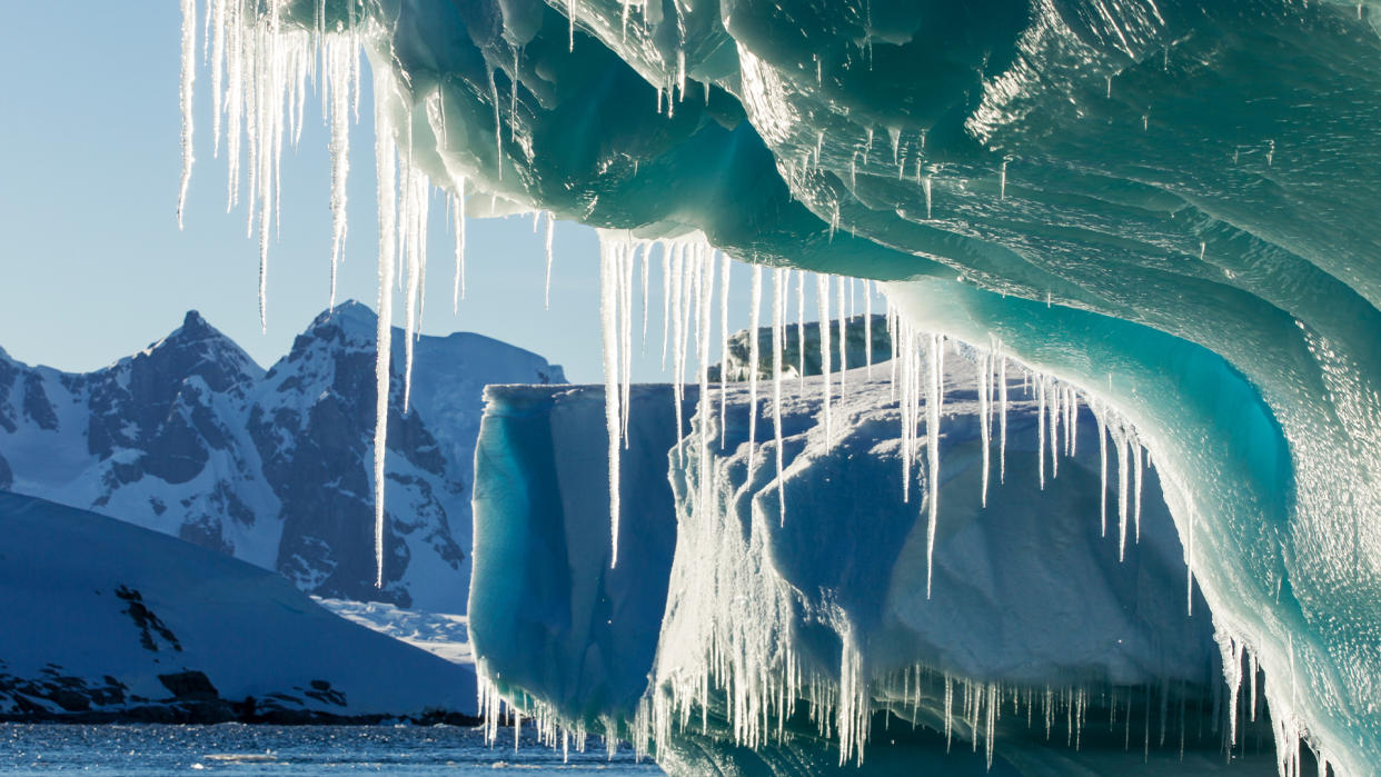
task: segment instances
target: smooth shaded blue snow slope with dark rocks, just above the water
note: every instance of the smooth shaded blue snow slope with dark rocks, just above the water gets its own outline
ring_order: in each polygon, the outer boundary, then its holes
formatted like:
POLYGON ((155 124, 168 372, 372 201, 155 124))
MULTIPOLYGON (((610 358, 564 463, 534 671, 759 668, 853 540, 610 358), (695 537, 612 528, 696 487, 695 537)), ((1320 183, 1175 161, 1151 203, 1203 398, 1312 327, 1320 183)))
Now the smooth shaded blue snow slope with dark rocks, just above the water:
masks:
POLYGON ((347 622, 272 571, 12 493, 0 533, 0 714, 157 704, 174 697, 160 676, 184 672, 261 714, 474 711, 471 671, 347 622))

